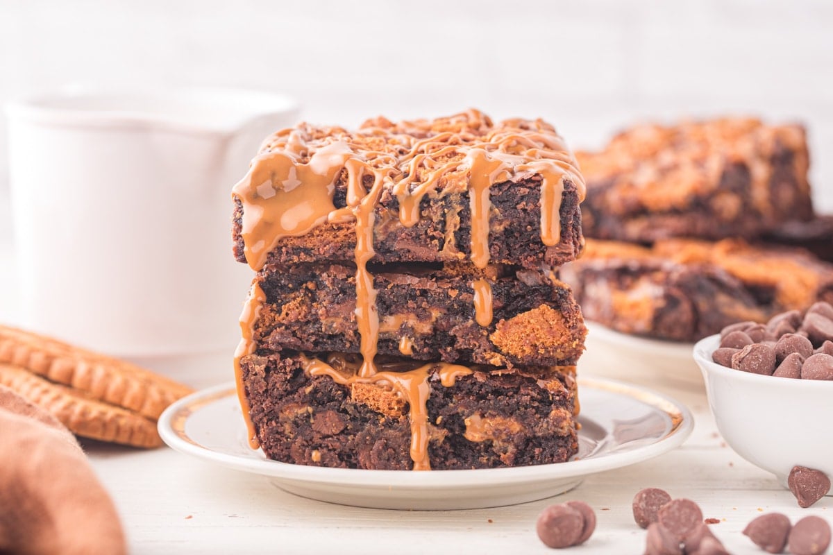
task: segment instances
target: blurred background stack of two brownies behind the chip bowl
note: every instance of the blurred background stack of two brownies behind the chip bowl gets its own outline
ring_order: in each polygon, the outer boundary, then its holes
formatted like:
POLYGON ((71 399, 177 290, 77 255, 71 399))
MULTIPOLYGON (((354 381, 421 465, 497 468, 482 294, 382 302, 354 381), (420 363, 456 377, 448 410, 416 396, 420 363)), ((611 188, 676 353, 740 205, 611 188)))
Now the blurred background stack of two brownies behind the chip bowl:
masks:
POLYGON ((576 156, 592 239, 561 278, 588 320, 691 341, 833 300, 833 265, 795 246, 826 233, 829 250, 831 237, 830 221, 811 222, 801 126, 643 125, 576 156))

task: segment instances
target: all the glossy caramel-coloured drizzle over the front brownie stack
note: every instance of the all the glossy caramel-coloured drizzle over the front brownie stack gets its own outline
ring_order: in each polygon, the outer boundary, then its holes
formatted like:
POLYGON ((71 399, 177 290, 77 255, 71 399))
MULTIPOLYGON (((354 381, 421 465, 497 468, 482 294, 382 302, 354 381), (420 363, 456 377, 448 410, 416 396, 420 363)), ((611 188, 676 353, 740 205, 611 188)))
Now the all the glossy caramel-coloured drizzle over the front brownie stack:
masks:
MULTIPOLYGON (((327 375, 340 384, 387 384, 402 395, 410 407, 415 470, 429 468, 425 409, 429 371, 438 368, 441 384, 450 386, 457 376, 471 370, 445 363, 406 372, 377 368, 377 291, 367 270, 367 262, 375 255, 375 208, 382 191, 391 190, 399 202, 399 221, 412 227, 420 221, 421 201, 426 195, 436 198, 467 191, 471 261, 483 269, 491 258, 491 186, 531 175, 541 180, 541 242, 557 245, 561 240, 563 181, 575 184, 579 201, 584 199, 584 181, 561 137, 541 120, 507 120, 493 126, 480 111, 470 110, 433 121, 399 124, 378 118, 367 121, 356 133, 302 124, 272 136, 252 161, 247 176, 234 187, 233 196, 243 206, 241 235, 246 259, 256 271, 266 265, 268 253, 283 237, 306 235, 325 221, 355 220, 355 313, 362 364, 350 376, 317 359, 306 359, 305 366, 309 374, 327 375), (347 206, 336 209, 332 199, 339 179, 347 181, 347 206)), ((486 327, 492 320, 491 287, 481 279, 472 283, 472 289, 476 321, 486 327)), ((240 358, 256 348, 254 325, 263 301, 262 292, 247 300, 244 315, 249 317, 245 323, 241 320, 247 329, 235 359, 238 394, 250 433, 253 427, 239 376, 240 358)), ((410 350, 410 345, 402 345, 410 350)), ((252 439, 252 444, 256 443, 257 439, 252 439)))

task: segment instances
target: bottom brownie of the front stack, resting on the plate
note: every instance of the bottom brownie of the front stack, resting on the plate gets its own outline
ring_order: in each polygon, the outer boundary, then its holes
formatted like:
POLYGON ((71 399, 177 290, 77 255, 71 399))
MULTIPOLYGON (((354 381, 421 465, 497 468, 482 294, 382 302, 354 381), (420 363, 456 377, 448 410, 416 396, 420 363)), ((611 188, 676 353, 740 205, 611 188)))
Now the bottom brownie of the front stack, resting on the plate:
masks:
POLYGON ((241 366, 257 439, 285 463, 496 468, 560 463, 578 448, 574 367, 462 369, 388 359, 372 380, 356 381, 357 360, 325 363, 288 351, 251 354, 241 366), (317 374, 317 365, 341 378, 317 374), (407 374, 417 374, 424 394, 397 389, 397 375, 407 374), (414 406, 407 400, 418 398, 414 406))

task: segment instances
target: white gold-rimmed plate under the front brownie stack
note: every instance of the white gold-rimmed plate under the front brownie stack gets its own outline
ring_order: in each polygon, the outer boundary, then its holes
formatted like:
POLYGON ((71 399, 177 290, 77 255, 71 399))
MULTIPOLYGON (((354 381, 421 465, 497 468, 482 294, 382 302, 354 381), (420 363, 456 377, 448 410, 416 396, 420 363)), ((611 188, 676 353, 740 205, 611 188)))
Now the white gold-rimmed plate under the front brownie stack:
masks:
POLYGON ((165 443, 182 453, 274 478, 306 498, 358 507, 486 508, 563 493, 591 473, 620 468, 676 448, 694 421, 685 406, 648 389, 605 379, 579 379, 579 453, 561 464, 477 470, 357 470, 268 460, 246 440, 231 384, 172 404, 159 419, 165 443))

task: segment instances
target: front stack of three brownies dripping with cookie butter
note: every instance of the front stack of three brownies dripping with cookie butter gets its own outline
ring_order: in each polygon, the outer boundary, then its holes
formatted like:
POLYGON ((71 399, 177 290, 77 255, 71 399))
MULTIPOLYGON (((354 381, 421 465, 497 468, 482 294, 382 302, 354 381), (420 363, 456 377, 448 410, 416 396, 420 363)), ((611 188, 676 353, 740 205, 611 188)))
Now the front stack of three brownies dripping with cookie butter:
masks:
POLYGON ((570 458, 586 329, 556 268, 581 252, 583 196, 540 120, 272 136, 232 195, 257 272, 236 356, 252 446, 342 468, 570 458))

